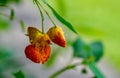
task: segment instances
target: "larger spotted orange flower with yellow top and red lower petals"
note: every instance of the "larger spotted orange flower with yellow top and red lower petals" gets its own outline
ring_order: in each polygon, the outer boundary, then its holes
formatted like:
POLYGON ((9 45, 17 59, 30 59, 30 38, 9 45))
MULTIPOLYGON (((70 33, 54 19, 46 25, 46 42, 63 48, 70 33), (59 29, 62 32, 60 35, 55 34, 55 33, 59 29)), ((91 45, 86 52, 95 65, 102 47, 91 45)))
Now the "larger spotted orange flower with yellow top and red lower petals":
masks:
POLYGON ((27 36, 29 36, 30 45, 25 48, 25 55, 35 63, 44 64, 50 56, 50 38, 47 34, 41 33, 34 27, 28 27, 27 36))

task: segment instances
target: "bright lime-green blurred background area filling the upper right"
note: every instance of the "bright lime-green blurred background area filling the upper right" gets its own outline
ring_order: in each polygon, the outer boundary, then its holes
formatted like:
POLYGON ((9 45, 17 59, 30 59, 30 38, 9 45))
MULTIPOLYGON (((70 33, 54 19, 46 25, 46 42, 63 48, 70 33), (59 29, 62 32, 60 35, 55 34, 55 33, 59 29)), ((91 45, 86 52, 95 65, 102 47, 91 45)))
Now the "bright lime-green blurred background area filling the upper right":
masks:
POLYGON ((86 41, 101 40, 104 58, 120 70, 119 0, 48 0, 86 41))

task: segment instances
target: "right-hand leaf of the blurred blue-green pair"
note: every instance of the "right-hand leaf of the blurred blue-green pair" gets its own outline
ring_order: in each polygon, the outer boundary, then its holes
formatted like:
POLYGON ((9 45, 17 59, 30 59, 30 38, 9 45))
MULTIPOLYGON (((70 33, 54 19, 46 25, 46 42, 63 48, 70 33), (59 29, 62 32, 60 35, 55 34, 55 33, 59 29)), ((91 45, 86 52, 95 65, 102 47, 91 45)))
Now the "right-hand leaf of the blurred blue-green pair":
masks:
POLYGON ((95 57, 95 61, 98 62, 103 56, 103 45, 100 41, 93 42, 90 44, 91 52, 95 57))

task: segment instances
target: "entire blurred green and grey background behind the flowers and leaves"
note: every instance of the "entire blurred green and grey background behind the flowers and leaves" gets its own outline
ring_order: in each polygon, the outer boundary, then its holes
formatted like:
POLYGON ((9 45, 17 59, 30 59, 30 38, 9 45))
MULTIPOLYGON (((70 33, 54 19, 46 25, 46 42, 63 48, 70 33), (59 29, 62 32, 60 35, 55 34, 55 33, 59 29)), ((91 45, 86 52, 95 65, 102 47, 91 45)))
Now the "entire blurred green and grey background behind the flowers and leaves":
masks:
MULTIPOLYGON (((103 43, 104 56, 98 63, 98 67, 106 78, 120 78, 120 1, 48 0, 48 2, 61 16, 72 23, 83 41, 90 43, 99 40, 103 43)), ((13 0, 8 5, 14 9, 15 17, 24 21, 25 29, 28 26, 41 28, 39 11, 32 0, 13 0)), ((6 7, 0 7, 0 12, 10 14, 10 10, 6 7)), ((53 16, 52 13, 51 16, 53 16)), ((54 16, 53 19, 63 27, 67 38, 71 40, 76 38, 75 34, 54 16)), ((52 26, 46 15, 45 25, 46 31, 52 26)), ((48 78, 50 74, 64 67, 72 56, 70 47, 63 50, 52 45, 54 48, 52 51, 59 52, 58 49, 60 49, 60 53, 57 53, 58 55, 54 58, 55 63, 49 68, 47 65, 34 64, 24 55, 24 48, 29 44, 25 33, 21 30, 19 21, 10 21, 8 17, 0 15, 0 78, 14 78, 12 73, 19 69, 27 78, 48 78)), ((92 75, 91 72, 83 75, 80 70, 70 70, 58 78, 90 78, 92 75)))

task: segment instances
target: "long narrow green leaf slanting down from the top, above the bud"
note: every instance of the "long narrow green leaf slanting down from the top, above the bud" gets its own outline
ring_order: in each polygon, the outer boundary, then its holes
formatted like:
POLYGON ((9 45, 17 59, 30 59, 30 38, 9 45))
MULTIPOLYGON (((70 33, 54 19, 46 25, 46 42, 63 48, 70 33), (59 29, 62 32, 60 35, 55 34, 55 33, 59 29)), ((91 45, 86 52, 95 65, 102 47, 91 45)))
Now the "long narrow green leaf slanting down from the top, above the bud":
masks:
POLYGON ((74 29, 74 27, 72 26, 71 23, 69 23, 68 21, 66 21, 62 16, 60 16, 55 10, 54 8, 52 8, 47 2, 46 0, 42 0, 53 12, 54 16, 64 25, 66 25, 70 30, 72 30, 74 33, 77 34, 76 30, 74 29))

